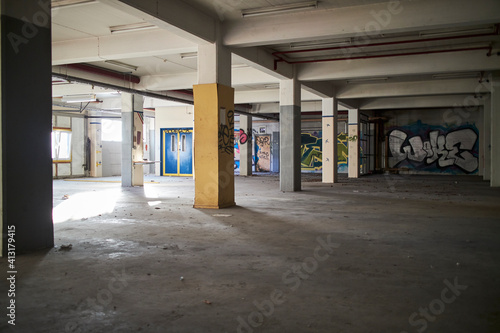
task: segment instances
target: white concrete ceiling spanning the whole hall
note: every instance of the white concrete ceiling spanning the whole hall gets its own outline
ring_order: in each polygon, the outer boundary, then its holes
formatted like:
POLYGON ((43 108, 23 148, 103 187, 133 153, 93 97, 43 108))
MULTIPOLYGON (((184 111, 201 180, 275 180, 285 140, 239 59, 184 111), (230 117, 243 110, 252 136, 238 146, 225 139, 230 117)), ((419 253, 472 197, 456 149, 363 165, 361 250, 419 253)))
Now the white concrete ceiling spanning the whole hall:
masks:
MULTIPOLYGON (((323 0, 319 2, 318 9, 303 13, 242 18, 242 9, 302 2, 302 0, 185 0, 182 2, 188 6, 174 8, 172 3, 172 12, 178 10, 182 14, 182 19, 167 21, 162 20, 160 11, 150 15, 138 11, 134 6, 124 5, 124 3, 132 5, 137 3, 137 6, 148 6, 153 2, 153 0, 148 3, 139 0, 99 0, 90 4, 54 9, 52 26, 54 65, 84 63, 117 72, 130 72, 141 78, 141 83, 135 86, 141 90, 163 92, 189 89, 196 84, 197 59, 182 58, 181 54, 196 51, 200 36, 190 38, 190 31, 182 34, 177 34, 176 31, 183 28, 189 30, 190 27, 196 26, 198 23, 191 20, 191 17, 195 17, 191 14, 201 11, 208 13, 213 18, 214 24, 220 25, 223 40, 232 45, 233 52, 238 54, 233 56, 233 86, 237 91, 238 103, 278 101, 278 86, 273 87, 272 84, 279 83, 279 80, 292 70, 290 65, 279 62, 278 71, 275 71, 273 60, 277 58, 272 53, 296 50, 296 43, 314 44, 347 39, 349 42, 343 45, 356 47, 287 54, 280 57, 294 62, 346 57, 346 55, 351 58, 392 55, 364 60, 346 59, 298 64, 299 79, 303 84, 310 85, 307 91, 317 92, 316 95, 311 95, 304 91, 304 98, 308 100, 314 96, 319 100, 325 89, 328 90, 330 89, 328 87, 332 86, 336 86, 337 91, 345 91, 350 79, 377 77, 383 79, 381 82, 360 83, 359 92, 353 91, 356 88, 352 88, 351 83, 349 93, 357 96, 356 99, 359 101, 364 98, 362 92, 367 91, 367 84, 381 87, 381 95, 387 97, 388 93, 383 89, 384 84, 395 81, 400 82, 400 86, 405 83, 411 86, 413 82, 431 82, 434 80, 433 75, 438 73, 479 73, 500 70, 500 60, 495 53, 498 52, 500 42, 498 35, 373 47, 365 45, 429 38, 424 37, 422 32, 451 36, 453 33, 450 35, 450 32, 454 31, 455 35, 476 34, 474 31, 478 33, 482 31, 477 29, 493 31, 494 24, 500 23, 500 2, 496 0, 477 0, 474 4, 468 0, 402 0, 401 7, 409 9, 393 15, 390 24, 381 27, 376 34, 369 35, 356 32, 356 29, 367 27, 372 21, 376 23, 377 16, 373 13, 386 10, 388 1, 323 0), (472 11, 471 8, 478 9, 472 11), (432 9, 439 13, 433 13, 432 9), (136 23, 150 23, 158 28, 121 34, 112 34, 110 31, 112 26, 136 23), (333 28, 330 29, 330 26, 333 28), (459 30, 463 31, 457 32, 459 30), (286 42, 283 42, 285 40, 286 42), (450 49, 489 46, 493 47, 494 54, 491 57, 486 57, 485 50, 437 53, 450 49), (422 52, 436 53, 396 55, 422 52), (246 55, 250 56, 244 59, 246 55), (118 60, 136 66, 137 70, 117 67, 105 62, 106 60, 118 60), (251 67, 245 67, 244 64, 251 67), (312 85, 319 89, 312 89, 312 85)), ((210 27, 207 26, 207 30, 208 28, 210 27)), ((54 71, 102 80, 110 84, 122 84, 103 76, 66 68, 55 67, 54 71)), ((455 79, 440 80, 438 83, 446 85, 455 79)), ((477 81, 473 77, 468 80, 477 81)), ((123 85, 130 86, 129 83, 123 85)), ((464 89, 464 86, 457 88, 457 91, 443 89, 443 94, 462 94, 464 89)), ((406 94, 406 97, 411 97, 411 93, 406 92, 406 94)), ((432 95, 433 92, 422 89, 415 91, 415 95, 418 96, 426 94, 432 95)), ((366 98, 368 96, 370 99, 374 98, 373 94, 366 93, 366 98)))

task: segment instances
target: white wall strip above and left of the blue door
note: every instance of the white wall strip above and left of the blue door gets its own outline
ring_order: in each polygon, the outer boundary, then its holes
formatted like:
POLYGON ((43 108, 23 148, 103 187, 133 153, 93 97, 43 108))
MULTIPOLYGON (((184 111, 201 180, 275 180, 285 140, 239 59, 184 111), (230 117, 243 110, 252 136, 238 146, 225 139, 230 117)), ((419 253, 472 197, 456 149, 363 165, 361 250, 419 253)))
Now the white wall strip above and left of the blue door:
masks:
MULTIPOLYGON (((155 160, 161 159, 161 129, 162 128, 193 128, 194 106, 158 107, 155 111, 155 160)), ((155 174, 160 175, 160 163, 156 163, 155 174)))

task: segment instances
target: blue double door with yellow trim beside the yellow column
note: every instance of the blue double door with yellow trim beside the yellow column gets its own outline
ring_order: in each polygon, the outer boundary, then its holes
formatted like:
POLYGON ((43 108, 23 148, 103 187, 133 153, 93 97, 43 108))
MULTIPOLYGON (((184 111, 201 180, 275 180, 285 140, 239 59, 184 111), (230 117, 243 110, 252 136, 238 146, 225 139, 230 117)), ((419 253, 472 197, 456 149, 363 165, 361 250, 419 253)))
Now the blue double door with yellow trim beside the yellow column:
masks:
POLYGON ((162 176, 193 175, 193 129, 162 129, 162 176))

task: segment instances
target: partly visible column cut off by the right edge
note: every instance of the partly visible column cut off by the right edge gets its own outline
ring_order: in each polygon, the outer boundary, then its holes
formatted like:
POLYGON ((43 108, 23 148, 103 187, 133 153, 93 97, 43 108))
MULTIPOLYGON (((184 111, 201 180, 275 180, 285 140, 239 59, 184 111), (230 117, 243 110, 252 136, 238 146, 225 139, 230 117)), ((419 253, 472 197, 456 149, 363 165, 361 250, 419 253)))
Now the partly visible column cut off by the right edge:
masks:
POLYGON ((491 186, 500 187, 500 75, 491 82, 491 186))

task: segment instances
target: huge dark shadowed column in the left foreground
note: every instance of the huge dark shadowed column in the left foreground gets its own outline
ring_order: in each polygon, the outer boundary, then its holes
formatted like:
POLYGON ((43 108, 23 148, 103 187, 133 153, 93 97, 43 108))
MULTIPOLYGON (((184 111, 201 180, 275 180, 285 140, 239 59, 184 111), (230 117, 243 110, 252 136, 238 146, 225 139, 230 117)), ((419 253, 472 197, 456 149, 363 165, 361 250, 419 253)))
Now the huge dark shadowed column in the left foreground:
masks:
POLYGON ((0 14, 1 252, 7 256, 8 231, 15 231, 18 255, 54 246, 50 1, 2 1, 0 14))

